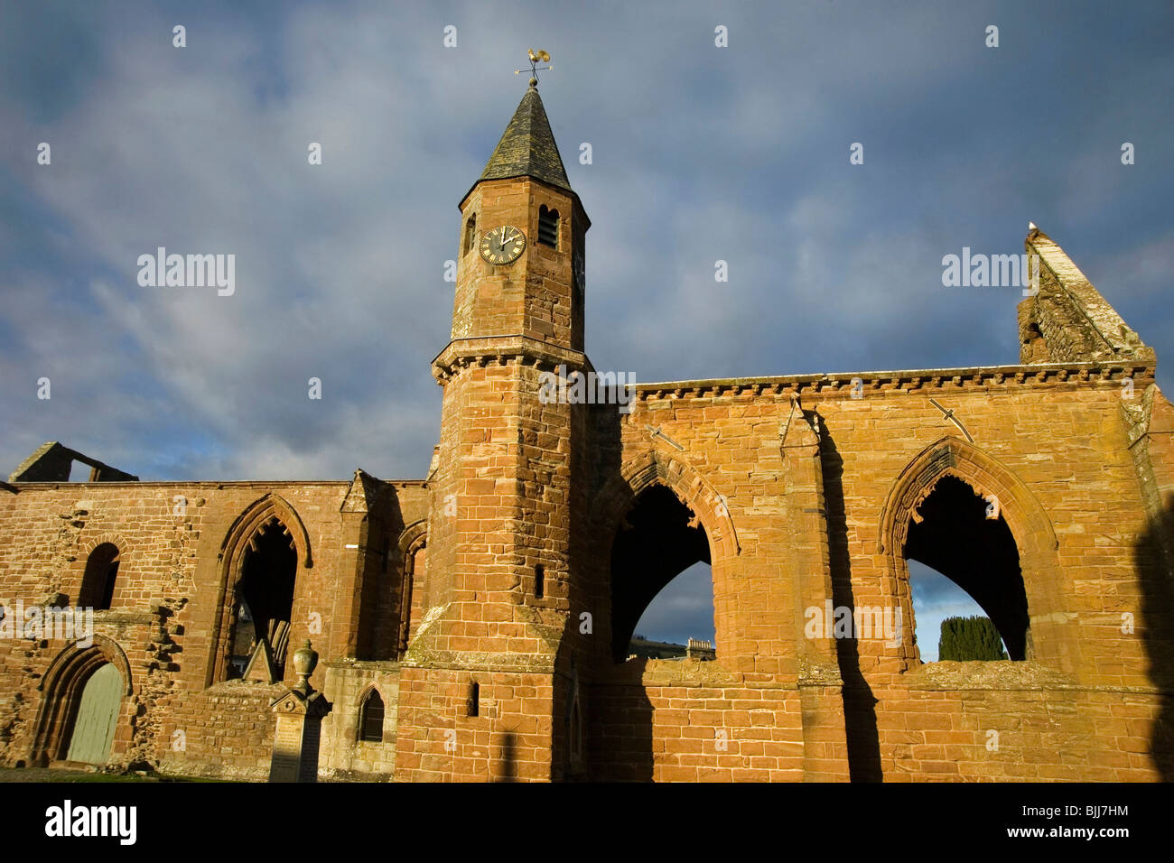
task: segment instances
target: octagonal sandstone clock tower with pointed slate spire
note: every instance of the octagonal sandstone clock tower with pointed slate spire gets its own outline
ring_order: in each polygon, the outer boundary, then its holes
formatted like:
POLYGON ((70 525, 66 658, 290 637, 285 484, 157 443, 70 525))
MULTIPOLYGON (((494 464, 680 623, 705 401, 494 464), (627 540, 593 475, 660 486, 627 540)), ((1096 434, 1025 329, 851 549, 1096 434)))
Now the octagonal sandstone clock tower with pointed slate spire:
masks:
POLYGON ((460 203, 452 339, 430 476, 424 618, 404 658, 397 778, 551 778, 568 611, 583 235, 534 81, 460 203))

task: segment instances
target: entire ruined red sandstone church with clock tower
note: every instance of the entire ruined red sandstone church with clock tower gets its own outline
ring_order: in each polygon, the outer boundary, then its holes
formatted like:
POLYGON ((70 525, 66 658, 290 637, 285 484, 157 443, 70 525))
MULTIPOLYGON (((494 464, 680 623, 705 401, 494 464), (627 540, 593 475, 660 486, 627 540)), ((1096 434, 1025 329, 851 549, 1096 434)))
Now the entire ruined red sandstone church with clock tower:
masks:
POLYGON ((460 202, 424 478, 139 481, 58 443, 20 465, 0 764, 264 781, 309 640, 322 780, 1174 778, 1174 407, 1059 245, 1027 234, 1016 364, 544 398, 595 372, 589 227, 532 82, 460 202), (909 560, 1010 659, 923 663, 909 560), (709 655, 630 658, 697 561, 709 655), (29 636, 18 601, 93 632, 29 636), (839 607, 905 636, 812 636, 839 607))

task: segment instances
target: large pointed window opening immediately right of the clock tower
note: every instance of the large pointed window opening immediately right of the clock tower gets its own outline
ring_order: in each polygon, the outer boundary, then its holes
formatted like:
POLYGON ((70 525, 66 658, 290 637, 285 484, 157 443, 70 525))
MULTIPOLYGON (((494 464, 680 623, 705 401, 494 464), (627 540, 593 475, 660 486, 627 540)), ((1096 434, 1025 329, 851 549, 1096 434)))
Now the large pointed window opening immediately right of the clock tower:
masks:
POLYGON ((683 658, 690 639, 713 645, 709 539, 693 512, 657 485, 641 492, 625 522, 612 546, 612 658, 683 658))

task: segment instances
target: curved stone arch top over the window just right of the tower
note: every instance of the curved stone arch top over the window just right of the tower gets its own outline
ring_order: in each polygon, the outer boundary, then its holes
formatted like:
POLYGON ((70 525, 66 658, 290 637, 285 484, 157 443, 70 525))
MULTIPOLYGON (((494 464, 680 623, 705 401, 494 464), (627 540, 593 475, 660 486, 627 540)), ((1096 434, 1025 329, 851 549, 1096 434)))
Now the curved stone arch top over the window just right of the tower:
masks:
POLYGON ((741 553, 734 519, 722 495, 695 467, 660 450, 647 450, 625 461, 599 491, 592 506, 594 535, 613 537, 640 493, 657 484, 669 488, 697 517, 709 537, 714 566, 720 559, 741 553))

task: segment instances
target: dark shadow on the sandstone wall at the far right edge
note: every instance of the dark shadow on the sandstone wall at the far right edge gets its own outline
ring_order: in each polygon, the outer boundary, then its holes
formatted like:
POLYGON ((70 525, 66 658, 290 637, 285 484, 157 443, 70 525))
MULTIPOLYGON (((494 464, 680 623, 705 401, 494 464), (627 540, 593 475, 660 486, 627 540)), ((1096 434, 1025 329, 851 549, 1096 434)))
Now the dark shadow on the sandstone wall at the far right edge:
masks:
POLYGON ((1165 782, 1174 781, 1174 494, 1161 514, 1151 519, 1134 548, 1141 586, 1141 635, 1149 677, 1162 693, 1162 707, 1151 733, 1154 769, 1165 782))

